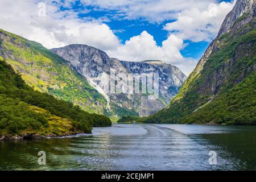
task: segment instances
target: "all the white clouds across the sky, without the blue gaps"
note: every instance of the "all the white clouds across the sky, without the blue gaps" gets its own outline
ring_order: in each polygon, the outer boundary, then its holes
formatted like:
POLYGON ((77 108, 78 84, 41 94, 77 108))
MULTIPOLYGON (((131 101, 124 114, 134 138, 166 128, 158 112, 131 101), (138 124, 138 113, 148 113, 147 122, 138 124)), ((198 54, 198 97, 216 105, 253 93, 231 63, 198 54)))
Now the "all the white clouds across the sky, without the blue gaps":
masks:
MULTIPOLYGON (((112 30, 102 23, 109 17, 80 19, 77 11, 60 11, 60 6, 72 7, 71 0, 47 1, 46 16, 40 17, 38 2, 0 0, 0 28, 42 43, 47 48, 88 44, 122 60, 163 60, 177 65, 187 74, 194 68, 196 60, 184 59, 181 55, 184 40, 197 42, 212 39, 233 6, 231 3, 209 5, 215 0, 82 0, 85 5, 97 6, 98 10, 115 10, 115 18, 121 15, 126 19, 143 18, 149 22, 177 18, 175 22, 166 24, 164 28, 170 31, 170 35, 162 42, 162 46, 157 46, 154 37, 146 31, 121 44, 114 34, 118 30, 112 30)), ((86 14, 90 10, 81 11, 86 14)))

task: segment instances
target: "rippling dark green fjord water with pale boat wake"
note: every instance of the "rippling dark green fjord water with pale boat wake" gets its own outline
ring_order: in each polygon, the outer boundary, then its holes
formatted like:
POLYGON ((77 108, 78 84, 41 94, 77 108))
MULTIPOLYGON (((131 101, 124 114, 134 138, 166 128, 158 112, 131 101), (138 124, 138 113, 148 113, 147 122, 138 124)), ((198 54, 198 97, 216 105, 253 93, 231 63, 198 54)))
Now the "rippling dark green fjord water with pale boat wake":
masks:
POLYGON ((256 127, 115 124, 76 137, 0 141, 0 170, 14 169, 255 170, 256 127))

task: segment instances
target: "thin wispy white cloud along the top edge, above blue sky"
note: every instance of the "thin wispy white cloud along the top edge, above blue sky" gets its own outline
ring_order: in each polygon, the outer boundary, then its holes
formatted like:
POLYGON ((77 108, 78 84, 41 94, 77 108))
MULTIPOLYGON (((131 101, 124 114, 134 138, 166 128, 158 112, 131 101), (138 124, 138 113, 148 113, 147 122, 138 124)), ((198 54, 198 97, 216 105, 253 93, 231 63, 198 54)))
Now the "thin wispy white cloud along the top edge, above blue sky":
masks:
MULTIPOLYGON (((84 5, 97 6, 103 10, 117 10, 122 18, 143 18, 150 22, 162 22, 175 19, 177 13, 184 9, 196 7, 205 9, 215 0, 81 0, 84 5)), ((118 14, 117 14, 118 15, 118 14)), ((118 18, 115 15, 114 18, 118 18)))

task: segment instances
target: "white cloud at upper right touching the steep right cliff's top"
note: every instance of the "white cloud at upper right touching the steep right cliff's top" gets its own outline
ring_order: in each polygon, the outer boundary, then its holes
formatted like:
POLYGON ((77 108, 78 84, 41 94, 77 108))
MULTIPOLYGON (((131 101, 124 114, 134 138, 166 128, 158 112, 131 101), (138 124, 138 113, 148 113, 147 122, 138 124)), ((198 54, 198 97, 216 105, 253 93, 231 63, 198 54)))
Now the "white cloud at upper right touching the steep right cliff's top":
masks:
POLYGON ((210 41, 216 36, 226 14, 232 10, 234 3, 210 3, 206 10, 192 8, 182 11, 177 20, 167 23, 168 30, 183 40, 193 42, 210 41))

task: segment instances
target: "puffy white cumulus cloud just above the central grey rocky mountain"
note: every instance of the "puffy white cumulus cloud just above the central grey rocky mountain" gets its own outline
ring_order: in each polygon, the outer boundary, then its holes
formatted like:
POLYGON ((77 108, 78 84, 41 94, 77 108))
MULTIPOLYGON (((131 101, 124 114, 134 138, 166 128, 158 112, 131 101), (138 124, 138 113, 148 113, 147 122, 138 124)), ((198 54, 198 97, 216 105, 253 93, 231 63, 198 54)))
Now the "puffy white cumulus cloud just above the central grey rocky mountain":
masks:
POLYGON ((141 35, 130 38, 114 51, 109 51, 109 55, 117 56, 121 60, 162 60, 173 64, 183 60, 180 53, 183 46, 183 40, 175 35, 170 35, 162 46, 157 46, 154 37, 143 31, 141 35))

